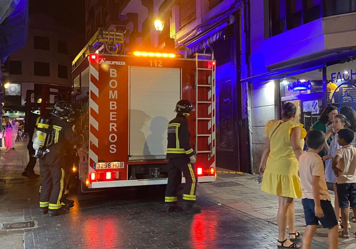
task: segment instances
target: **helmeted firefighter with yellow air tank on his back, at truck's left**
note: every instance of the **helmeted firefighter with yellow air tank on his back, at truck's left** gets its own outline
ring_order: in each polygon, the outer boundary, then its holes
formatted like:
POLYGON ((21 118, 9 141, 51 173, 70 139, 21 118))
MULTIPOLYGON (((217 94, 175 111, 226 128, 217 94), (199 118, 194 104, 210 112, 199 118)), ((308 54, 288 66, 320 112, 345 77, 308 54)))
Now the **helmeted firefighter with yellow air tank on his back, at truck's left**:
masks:
POLYGON ((66 165, 64 152, 69 144, 80 144, 83 141, 83 135, 75 136, 72 125, 67 122, 70 112, 66 101, 59 101, 54 105, 49 118, 54 134, 53 142, 48 146, 47 153, 40 158, 40 208, 41 213, 49 213, 49 217, 66 213, 61 204, 66 165))

